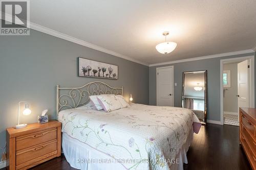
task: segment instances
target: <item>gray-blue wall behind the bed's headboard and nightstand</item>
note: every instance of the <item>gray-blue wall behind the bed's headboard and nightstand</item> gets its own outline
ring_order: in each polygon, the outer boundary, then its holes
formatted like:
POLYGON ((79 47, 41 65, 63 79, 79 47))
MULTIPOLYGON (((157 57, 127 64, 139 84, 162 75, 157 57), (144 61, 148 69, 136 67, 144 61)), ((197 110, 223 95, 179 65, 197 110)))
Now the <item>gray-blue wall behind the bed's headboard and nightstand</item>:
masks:
POLYGON ((56 85, 80 87, 92 81, 123 86, 127 99, 132 93, 134 102, 148 104, 147 66, 33 30, 30 36, 0 36, 0 146, 5 129, 17 124, 19 101, 28 101, 32 111, 21 115, 21 123, 36 122, 46 108, 54 119, 56 85), (118 80, 77 77, 77 57, 118 65, 118 80))

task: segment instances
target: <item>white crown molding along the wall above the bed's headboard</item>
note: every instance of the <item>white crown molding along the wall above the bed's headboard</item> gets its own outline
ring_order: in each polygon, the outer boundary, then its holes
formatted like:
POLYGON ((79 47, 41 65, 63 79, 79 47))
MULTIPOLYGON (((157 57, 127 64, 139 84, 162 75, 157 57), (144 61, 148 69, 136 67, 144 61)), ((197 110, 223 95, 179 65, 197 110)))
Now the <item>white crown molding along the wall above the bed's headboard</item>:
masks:
MULTIPOLYGON (((2 12, 1 12, 1 11, 0 11, 0 15, 1 15, 0 18, 3 19, 3 18, 2 18, 2 12)), ((6 18, 5 18, 5 19, 6 19, 7 21, 10 21, 10 22, 11 22, 11 21, 12 21, 12 15, 6 13, 6 18)), ((138 60, 136 60, 136 59, 133 59, 133 58, 131 58, 131 57, 128 57, 128 56, 125 56, 125 55, 116 53, 116 52, 114 52, 114 51, 108 50, 108 49, 103 48, 103 47, 101 47, 101 46, 94 45, 94 44, 92 44, 92 43, 89 43, 89 42, 80 40, 80 39, 78 39, 78 38, 69 36, 69 35, 67 35, 67 34, 60 33, 60 32, 58 32, 58 31, 49 29, 49 28, 47 28, 47 27, 38 25, 38 24, 33 23, 33 22, 29 22, 29 23, 30 23, 30 29, 33 29, 33 30, 36 30, 36 31, 39 31, 39 32, 42 32, 42 33, 46 33, 46 34, 52 35, 52 36, 54 36, 54 37, 58 37, 58 38, 61 38, 61 39, 64 39, 64 40, 67 40, 67 41, 70 41, 70 42, 73 42, 73 43, 82 45, 82 46, 86 46, 86 47, 92 48, 92 49, 94 49, 94 50, 97 50, 97 51, 100 51, 100 52, 103 52, 103 53, 106 53, 106 54, 110 54, 110 55, 113 55, 113 56, 116 56, 116 57, 120 57, 120 58, 123 58, 123 59, 125 59, 125 60, 129 60, 129 61, 132 61, 132 62, 135 62, 135 63, 138 63, 138 64, 142 64, 142 65, 148 66, 147 63, 144 63, 144 62, 138 61, 138 60)))

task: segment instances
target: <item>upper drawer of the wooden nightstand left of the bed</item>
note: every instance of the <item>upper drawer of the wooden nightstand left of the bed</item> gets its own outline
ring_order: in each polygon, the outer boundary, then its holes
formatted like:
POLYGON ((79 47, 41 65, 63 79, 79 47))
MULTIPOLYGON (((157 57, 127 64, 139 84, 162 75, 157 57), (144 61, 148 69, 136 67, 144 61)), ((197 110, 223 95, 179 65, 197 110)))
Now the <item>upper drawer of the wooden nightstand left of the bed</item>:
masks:
POLYGON ((57 138, 57 128, 16 137, 16 151, 57 138))

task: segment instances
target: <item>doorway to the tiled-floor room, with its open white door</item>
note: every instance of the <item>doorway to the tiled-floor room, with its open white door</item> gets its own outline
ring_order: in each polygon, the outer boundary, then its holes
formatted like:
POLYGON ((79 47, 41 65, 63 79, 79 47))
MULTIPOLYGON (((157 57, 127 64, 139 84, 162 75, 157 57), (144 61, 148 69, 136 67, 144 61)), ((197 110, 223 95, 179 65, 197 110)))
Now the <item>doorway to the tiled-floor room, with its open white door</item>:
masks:
POLYGON ((239 126, 239 107, 254 107, 254 56, 221 60, 221 124, 239 126))

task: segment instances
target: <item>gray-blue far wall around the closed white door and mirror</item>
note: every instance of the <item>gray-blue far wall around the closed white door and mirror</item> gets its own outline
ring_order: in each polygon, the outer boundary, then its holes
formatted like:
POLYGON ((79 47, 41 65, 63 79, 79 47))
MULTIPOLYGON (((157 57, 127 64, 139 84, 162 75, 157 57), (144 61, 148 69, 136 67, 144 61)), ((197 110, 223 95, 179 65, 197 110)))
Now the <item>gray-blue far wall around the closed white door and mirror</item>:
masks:
MULTIPOLYGON (((254 56, 255 53, 227 56, 221 58, 211 58, 198 61, 189 61, 175 64, 174 66, 174 105, 181 107, 181 91, 182 91, 182 73, 184 71, 207 70, 208 77, 208 109, 207 119, 220 121, 220 60, 227 58, 236 58, 244 56, 254 56)), ((255 62, 256 63, 256 62, 255 62)), ((156 105, 156 67, 150 67, 150 105, 156 105)), ((255 64, 256 65, 256 64, 255 64)), ((256 76, 256 75, 255 75, 256 76)), ((256 80, 256 78, 255 78, 256 80)))

